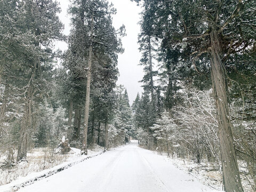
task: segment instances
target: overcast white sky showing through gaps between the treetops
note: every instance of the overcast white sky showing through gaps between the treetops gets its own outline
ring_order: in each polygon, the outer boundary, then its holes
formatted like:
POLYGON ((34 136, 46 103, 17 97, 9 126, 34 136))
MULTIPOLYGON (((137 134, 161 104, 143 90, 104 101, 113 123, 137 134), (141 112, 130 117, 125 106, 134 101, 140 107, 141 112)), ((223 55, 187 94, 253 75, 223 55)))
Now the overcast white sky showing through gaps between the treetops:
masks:
MULTIPOLYGON (((67 9, 69 0, 57 0, 60 2, 61 14, 59 15, 60 20, 65 24, 65 35, 69 34, 69 18, 67 15, 67 9)), ((143 69, 138 66, 140 60, 138 34, 140 33, 140 26, 137 23, 140 20, 139 12, 140 7, 136 3, 130 0, 109 0, 114 4, 117 9, 117 14, 114 15, 113 25, 116 28, 121 27, 123 24, 126 28, 127 36, 122 38, 123 47, 125 49, 123 54, 118 56, 118 69, 120 76, 118 77, 118 84, 122 84, 127 89, 129 94, 130 104, 135 99, 137 93, 142 92, 140 81, 143 77, 143 69)), ((58 42, 57 47, 61 50, 67 49, 67 44, 58 42)))

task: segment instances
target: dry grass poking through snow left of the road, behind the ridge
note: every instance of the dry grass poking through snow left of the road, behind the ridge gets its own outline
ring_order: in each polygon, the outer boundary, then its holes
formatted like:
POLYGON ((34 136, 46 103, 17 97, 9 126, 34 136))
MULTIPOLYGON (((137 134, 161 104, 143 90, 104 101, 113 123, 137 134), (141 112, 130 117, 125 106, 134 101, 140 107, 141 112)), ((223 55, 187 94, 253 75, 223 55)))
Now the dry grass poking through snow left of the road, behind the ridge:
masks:
MULTIPOLYGON (((95 145, 93 149, 88 150, 88 156, 101 151, 103 148, 95 145)), ((34 148, 27 154, 28 162, 15 163, 13 167, 5 167, 2 166, 5 158, 5 156, 0 158, 0 167, 2 167, 0 168, 0 185, 6 185, 31 173, 41 172, 57 165, 65 166, 67 163, 79 161, 85 156, 81 156, 80 149, 76 148, 71 148, 71 151, 65 155, 54 153, 54 150, 50 148, 34 148)))

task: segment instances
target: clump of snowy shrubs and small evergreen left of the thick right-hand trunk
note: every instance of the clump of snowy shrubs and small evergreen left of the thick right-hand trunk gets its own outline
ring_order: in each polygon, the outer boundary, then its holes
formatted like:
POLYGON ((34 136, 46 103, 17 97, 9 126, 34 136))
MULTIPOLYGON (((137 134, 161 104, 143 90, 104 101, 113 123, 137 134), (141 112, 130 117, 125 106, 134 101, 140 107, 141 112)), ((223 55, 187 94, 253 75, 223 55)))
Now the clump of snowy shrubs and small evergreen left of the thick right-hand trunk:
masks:
POLYGON ((219 162, 218 126, 211 90, 185 89, 181 98, 182 105, 170 112, 165 110, 150 127, 158 150, 166 151, 168 156, 189 156, 196 163, 203 157, 219 162))

